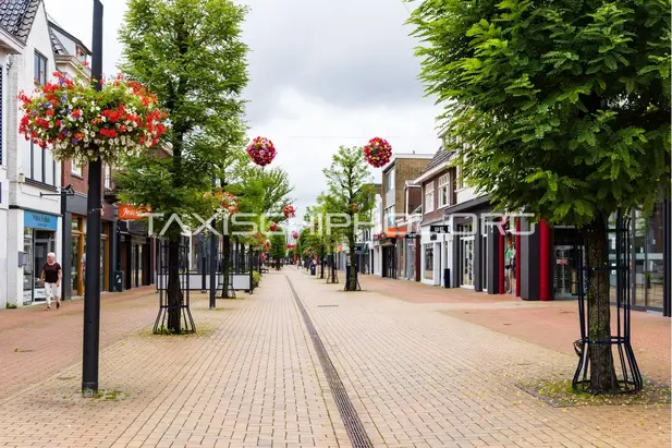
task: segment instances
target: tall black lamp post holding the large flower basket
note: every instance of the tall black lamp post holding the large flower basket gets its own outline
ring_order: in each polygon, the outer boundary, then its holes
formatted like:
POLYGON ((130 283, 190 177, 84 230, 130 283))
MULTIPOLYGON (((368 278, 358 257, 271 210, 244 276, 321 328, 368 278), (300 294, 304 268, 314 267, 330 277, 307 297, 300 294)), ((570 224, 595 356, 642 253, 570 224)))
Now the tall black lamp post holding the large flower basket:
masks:
MULTIPOLYGON (((102 3, 94 0, 91 80, 102 89, 102 3)), ((100 210, 102 208, 102 162, 88 164, 88 196, 86 216, 86 290, 84 293, 84 359, 82 395, 93 397, 98 391, 98 356, 100 348, 100 210)))

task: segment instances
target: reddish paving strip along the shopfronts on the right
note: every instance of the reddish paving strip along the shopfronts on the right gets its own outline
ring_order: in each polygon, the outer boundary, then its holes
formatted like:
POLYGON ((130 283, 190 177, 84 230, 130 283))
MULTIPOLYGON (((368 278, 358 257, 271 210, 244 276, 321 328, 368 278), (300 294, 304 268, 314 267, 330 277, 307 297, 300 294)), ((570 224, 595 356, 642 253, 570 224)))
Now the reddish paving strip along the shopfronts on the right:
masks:
MULTIPOLYGON (((341 273, 340 278, 344 274, 341 273)), ((364 289, 443 312, 525 341, 574 354, 579 338, 575 300, 527 302, 509 294, 431 287, 407 280, 362 276, 364 289)), ((612 310, 615 322, 615 310, 612 310)), ((642 371, 670 384, 670 318, 659 313, 632 312, 632 343, 642 371)))

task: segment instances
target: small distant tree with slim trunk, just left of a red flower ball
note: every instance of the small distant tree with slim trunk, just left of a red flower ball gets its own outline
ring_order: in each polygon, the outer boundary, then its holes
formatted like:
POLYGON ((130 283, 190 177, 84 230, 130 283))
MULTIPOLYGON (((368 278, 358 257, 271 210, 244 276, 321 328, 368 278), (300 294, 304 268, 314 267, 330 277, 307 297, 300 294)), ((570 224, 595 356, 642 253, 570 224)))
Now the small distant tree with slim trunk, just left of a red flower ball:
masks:
POLYGON ((341 146, 331 166, 322 172, 328 185, 321 199, 323 207, 331 214, 340 214, 341 217, 331 217, 330 221, 344 226, 339 228, 339 233, 350 247, 351 269, 346 290, 356 291, 355 243, 358 226, 368 222, 369 211, 374 207, 372 177, 364 160, 364 152, 356 146, 341 146), (342 222, 338 222, 341 219, 342 222))

